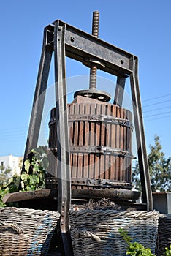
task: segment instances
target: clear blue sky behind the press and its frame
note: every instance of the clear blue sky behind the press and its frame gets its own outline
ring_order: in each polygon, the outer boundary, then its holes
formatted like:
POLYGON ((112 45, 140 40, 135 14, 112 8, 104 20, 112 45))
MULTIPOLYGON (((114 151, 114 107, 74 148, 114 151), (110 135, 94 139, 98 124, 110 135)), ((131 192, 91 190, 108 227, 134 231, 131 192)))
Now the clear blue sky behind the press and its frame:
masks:
MULTIPOLYGON (((139 57, 146 145, 159 135, 171 156, 171 0, 1 1, 1 156, 23 155, 44 27, 60 19, 91 33, 94 10, 100 12, 99 37, 139 57)), ((66 64, 67 78, 88 75, 82 64, 66 64)))

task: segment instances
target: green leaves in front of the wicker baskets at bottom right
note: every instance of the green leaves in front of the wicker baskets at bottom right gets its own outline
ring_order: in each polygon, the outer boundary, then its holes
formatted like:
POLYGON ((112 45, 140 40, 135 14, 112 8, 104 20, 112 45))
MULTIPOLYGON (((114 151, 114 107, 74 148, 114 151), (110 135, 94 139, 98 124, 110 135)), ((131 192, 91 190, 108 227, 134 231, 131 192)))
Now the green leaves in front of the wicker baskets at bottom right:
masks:
MULTIPOLYGON (((123 230, 123 228, 119 228, 119 233, 123 237, 126 244, 128 244, 128 249, 126 251, 126 255, 131 256, 156 256, 153 255, 151 249, 145 248, 142 244, 137 242, 132 242, 131 236, 128 235, 128 232, 123 230)), ((171 256, 171 246, 165 249, 164 255, 171 256)))

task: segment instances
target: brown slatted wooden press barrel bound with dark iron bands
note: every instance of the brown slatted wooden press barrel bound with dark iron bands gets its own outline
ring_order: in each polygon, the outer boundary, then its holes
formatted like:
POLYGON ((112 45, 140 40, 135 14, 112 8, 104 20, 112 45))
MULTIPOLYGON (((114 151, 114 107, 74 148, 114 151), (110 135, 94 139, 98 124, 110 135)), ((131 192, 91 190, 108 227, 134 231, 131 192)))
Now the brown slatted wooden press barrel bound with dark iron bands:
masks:
MULTIPOLYGON (((118 105, 85 98, 77 97, 68 105, 72 189, 130 189, 132 113, 118 105), (111 182, 104 184, 102 180, 111 182)), ((56 108, 51 110, 49 127, 51 153, 48 172, 58 178, 56 108)), ((50 179, 47 178, 47 181, 47 188, 56 187, 55 179, 51 185, 50 179)))

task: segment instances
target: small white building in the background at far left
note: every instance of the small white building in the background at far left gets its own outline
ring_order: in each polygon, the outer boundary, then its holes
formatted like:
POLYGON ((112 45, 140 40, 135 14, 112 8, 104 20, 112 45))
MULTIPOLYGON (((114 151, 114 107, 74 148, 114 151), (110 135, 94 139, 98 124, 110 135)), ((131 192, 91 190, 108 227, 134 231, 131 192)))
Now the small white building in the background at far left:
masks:
POLYGON ((17 174, 20 176, 20 170, 22 167, 23 157, 14 157, 12 154, 9 156, 0 157, 0 165, 3 165, 5 168, 12 169, 12 176, 17 174))

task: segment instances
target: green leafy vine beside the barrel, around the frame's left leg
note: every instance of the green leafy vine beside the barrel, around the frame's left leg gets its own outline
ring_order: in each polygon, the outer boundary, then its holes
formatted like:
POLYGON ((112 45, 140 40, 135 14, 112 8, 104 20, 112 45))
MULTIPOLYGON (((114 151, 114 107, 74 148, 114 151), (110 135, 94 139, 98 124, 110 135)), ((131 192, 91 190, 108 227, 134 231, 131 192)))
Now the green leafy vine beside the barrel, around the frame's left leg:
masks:
POLYGON ((31 150, 28 159, 24 162, 25 170, 21 176, 9 176, 11 169, 0 167, 0 207, 6 206, 2 202, 2 197, 7 193, 18 192, 21 181, 20 191, 31 191, 45 188, 45 175, 48 166, 47 147, 39 146, 31 150))

